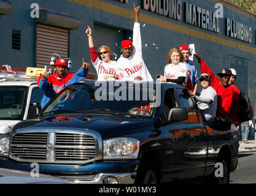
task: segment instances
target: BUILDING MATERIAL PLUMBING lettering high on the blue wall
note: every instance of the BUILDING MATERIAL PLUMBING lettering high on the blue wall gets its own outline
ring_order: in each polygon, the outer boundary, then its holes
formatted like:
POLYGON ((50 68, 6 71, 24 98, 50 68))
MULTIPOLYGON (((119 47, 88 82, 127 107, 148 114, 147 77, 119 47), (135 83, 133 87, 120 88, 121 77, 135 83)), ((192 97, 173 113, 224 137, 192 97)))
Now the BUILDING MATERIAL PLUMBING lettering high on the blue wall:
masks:
MULTIPOLYGON (((142 8, 176 20, 182 20, 182 0, 142 0, 142 8)), ((184 22, 212 32, 220 32, 219 18, 223 18, 222 4, 215 4, 214 12, 184 2, 184 22), (220 13, 219 13, 220 12, 220 13)), ((226 36, 252 43, 252 28, 226 18, 226 36)))

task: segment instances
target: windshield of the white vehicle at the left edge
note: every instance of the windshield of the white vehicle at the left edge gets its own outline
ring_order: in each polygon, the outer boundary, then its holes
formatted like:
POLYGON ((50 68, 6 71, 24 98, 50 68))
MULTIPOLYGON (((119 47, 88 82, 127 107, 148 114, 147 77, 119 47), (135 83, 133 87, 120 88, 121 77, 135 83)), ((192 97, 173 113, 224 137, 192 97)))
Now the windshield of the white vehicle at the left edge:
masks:
POLYGON ((27 88, 25 86, 0 86, 0 120, 22 120, 27 88))

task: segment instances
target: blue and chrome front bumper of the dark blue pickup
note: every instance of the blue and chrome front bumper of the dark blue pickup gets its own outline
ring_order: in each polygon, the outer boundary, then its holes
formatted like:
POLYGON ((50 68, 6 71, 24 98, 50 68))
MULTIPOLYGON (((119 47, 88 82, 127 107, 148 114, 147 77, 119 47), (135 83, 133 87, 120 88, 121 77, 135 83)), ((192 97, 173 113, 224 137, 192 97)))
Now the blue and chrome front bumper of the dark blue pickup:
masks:
MULTIPOLYGON (((74 183, 131 184, 134 183, 139 160, 100 160, 86 165, 38 164, 39 174, 52 175, 74 183)), ((14 170, 33 170, 29 163, 16 162, 0 157, 0 167, 14 170)))

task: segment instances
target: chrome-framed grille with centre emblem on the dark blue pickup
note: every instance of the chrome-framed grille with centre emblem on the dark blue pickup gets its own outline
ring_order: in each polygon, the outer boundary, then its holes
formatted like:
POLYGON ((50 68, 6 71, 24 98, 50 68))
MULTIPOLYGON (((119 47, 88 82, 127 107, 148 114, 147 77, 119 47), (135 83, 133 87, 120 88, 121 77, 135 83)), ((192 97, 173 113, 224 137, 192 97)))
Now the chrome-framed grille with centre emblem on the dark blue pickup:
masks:
POLYGON ((21 162, 82 164, 95 160, 98 146, 88 134, 18 133, 12 137, 10 157, 21 162))

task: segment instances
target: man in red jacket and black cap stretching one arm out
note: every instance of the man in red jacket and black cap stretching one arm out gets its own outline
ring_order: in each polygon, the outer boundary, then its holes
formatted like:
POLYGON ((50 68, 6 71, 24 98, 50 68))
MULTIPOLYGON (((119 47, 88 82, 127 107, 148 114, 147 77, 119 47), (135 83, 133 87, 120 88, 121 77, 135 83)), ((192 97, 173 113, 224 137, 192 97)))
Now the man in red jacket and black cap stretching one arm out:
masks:
POLYGON ((231 77, 231 70, 222 69, 222 72, 217 74, 220 78, 217 78, 200 56, 195 53, 195 57, 200 63, 201 72, 208 73, 211 76, 211 86, 217 92, 217 118, 228 123, 235 123, 238 126, 238 112, 231 109, 235 100, 234 88, 228 83, 231 77))

